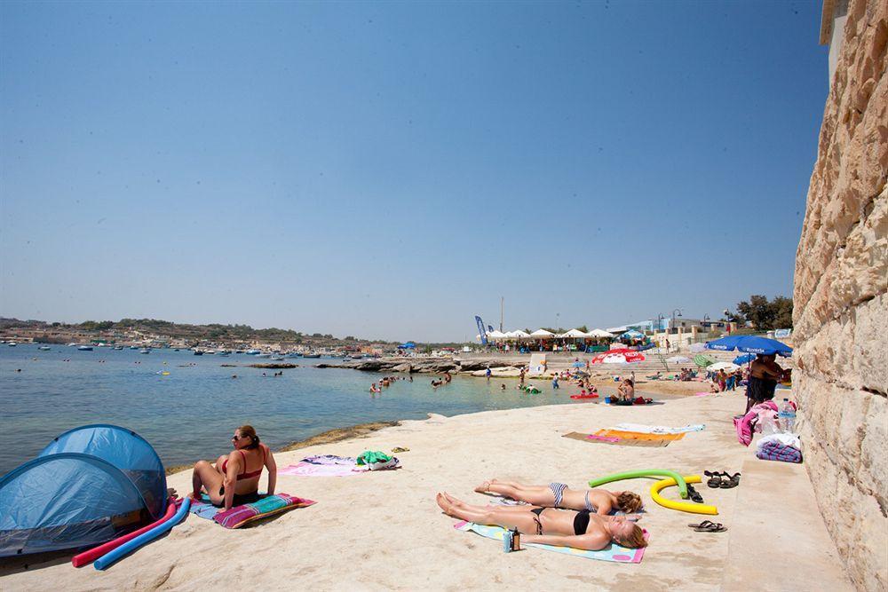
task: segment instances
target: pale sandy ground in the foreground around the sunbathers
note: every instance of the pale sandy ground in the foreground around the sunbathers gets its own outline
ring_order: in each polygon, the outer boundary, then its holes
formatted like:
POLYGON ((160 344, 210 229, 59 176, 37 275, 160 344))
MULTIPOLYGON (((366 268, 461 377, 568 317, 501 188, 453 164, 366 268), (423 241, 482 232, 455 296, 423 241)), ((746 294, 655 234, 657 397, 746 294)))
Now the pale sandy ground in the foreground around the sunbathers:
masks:
MULTIPOLYGON (((107 572, 97 572, 91 566, 75 569, 69 563, 71 555, 64 553, 7 560, 0 564, 0 588, 37 590, 64 581, 68 590, 486 589, 503 585, 749 589, 750 581, 756 581, 749 579, 749 569, 758 566, 765 580, 757 588, 769 589, 766 580, 770 576, 764 575, 769 570, 763 559, 785 553, 790 542, 802 537, 809 548, 792 543, 799 556, 792 568, 797 572, 793 587, 806 583, 819 587, 818 581, 832 581, 837 589, 850 589, 816 507, 805 508, 804 524, 790 530, 789 525, 781 524, 781 518, 768 519, 772 511, 768 504, 738 501, 743 495, 767 492, 778 482, 801 485, 784 494, 789 499, 775 503, 791 505, 798 502, 799 495, 810 494, 804 468, 757 461, 754 449, 737 443, 730 418, 742 406, 740 395, 719 394, 670 399, 650 407, 590 403, 454 417, 431 415, 426 421, 401 422, 358 438, 276 454, 282 468, 311 454, 354 456, 367 449, 410 449, 398 454, 399 470, 348 478, 279 477, 279 492, 317 501, 312 507, 234 531, 188 516, 168 536, 139 549, 107 572), (618 422, 704 423, 706 429, 663 448, 562 438, 570 431, 589 432, 618 422), (768 469, 777 473, 757 482, 756 467, 763 464, 771 465, 768 469), (651 539, 640 564, 608 563, 540 549, 504 554, 497 541, 456 531, 456 520, 441 513, 434 501, 436 492, 447 491, 484 504, 489 498, 472 490, 487 478, 542 484, 560 480, 579 487, 590 478, 646 468, 685 474, 744 471, 739 487, 699 487, 706 502, 718 506, 714 519, 727 525, 728 532, 694 533, 687 525, 707 517, 656 505, 648 493, 652 481, 636 479, 613 488, 632 489, 645 501, 641 524, 651 539), (760 524, 762 521, 768 525, 760 524), (744 525, 758 533, 757 549, 751 554, 751 549, 736 548, 737 537, 747 532, 744 525), (805 535, 805 529, 811 533, 805 535), (734 588, 730 578, 735 572, 728 566, 744 569, 744 561, 749 569, 734 588)), ((208 451, 208 456, 218 452, 222 451, 208 451)), ((186 493, 190 471, 170 476, 169 485, 186 493)), ((672 488, 666 495, 675 498, 678 493, 672 488)), ((780 558, 781 563, 786 560, 780 558)))

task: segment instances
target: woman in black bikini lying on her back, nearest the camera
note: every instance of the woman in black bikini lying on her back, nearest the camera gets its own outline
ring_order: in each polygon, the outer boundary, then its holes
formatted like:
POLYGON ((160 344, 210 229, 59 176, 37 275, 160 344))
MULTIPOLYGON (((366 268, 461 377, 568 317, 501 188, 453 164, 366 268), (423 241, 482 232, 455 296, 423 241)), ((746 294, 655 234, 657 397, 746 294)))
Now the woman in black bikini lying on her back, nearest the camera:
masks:
POLYGON ((624 516, 599 516, 583 509, 535 508, 534 506, 472 506, 447 493, 438 493, 440 509, 448 516, 480 525, 517 528, 524 542, 598 551, 612 542, 639 549, 647 546, 641 528, 624 516))

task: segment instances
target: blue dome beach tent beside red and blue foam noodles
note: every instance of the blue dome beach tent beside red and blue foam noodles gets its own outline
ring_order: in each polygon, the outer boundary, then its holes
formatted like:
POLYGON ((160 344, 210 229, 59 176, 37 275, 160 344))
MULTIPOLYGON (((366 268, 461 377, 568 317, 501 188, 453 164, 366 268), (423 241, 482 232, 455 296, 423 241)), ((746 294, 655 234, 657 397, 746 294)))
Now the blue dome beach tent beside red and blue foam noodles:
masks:
POLYGON ((0 478, 0 557, 91 547, 163 517, 166 475, 132 430, 86 425, 0 478))

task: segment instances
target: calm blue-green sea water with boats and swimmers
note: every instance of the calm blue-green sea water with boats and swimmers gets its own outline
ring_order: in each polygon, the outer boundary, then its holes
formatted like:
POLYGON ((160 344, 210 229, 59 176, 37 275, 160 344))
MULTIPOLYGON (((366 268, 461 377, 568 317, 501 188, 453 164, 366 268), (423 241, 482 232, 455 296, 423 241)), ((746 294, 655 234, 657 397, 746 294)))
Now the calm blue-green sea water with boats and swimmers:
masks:
POLYGON ((575 402, 568 397, 575 388, 552 391, 543 382, 536 383, 541 394, 525 395, 515 380, 457 376, 433 391, 431 375, 396 381, 372 396, 369 384, 381 375, 315 367, 329 359, 288 359, 299 367, 273 377, 274 370, 242 367, 269 361, 246 354, 51 347, 0 344, 0 474, 36 456, 61 432, 87 423, 139 432, 171 466, 227 452, 228 438, 243 423, 275 449, 357 423, 575 402), (170 375, 159 374, 164 371, 170 375))

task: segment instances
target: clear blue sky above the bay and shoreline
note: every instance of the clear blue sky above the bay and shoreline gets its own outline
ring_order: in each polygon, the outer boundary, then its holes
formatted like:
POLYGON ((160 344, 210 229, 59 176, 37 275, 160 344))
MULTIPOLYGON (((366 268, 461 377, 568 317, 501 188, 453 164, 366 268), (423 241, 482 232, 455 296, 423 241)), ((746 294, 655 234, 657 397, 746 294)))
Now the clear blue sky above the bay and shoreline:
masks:
POLYGON ((0 315, 462 340, 791 296, 819 2, 0 4, 0 315))

